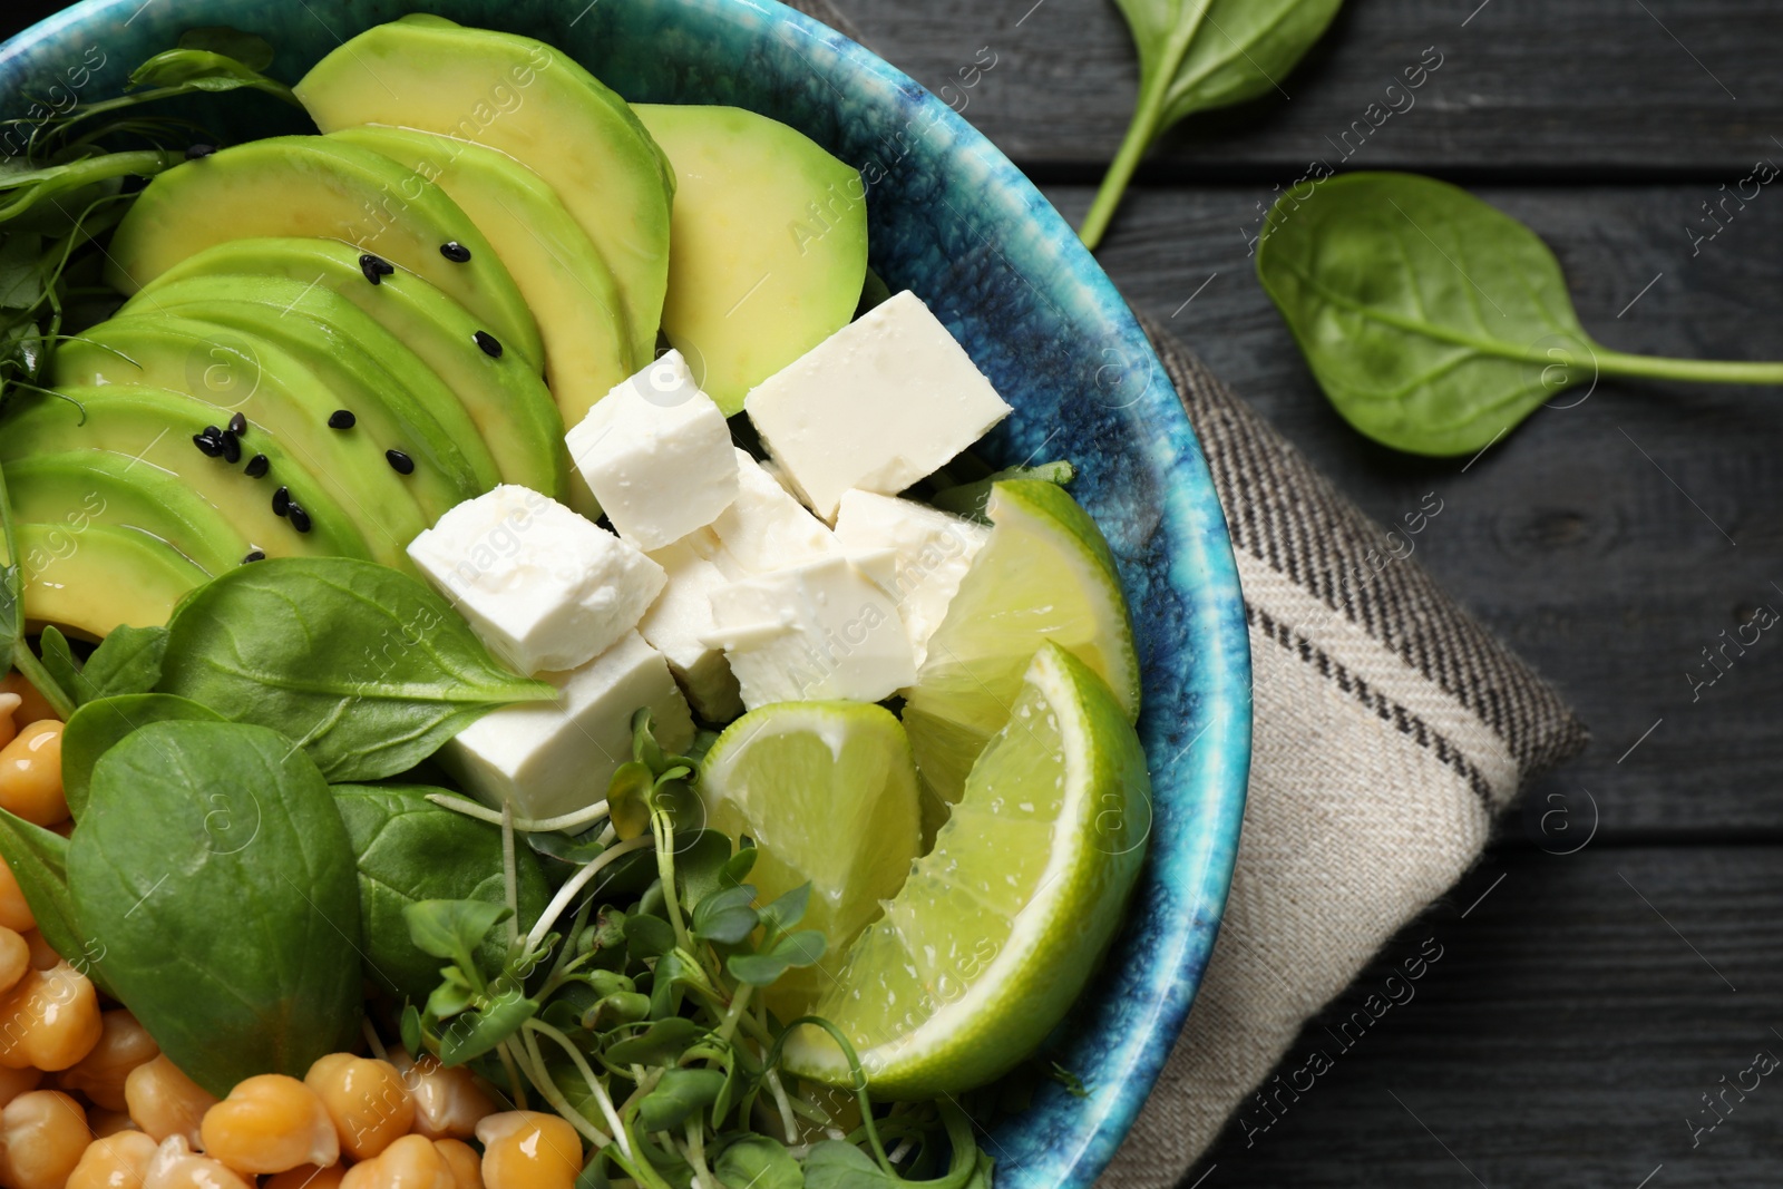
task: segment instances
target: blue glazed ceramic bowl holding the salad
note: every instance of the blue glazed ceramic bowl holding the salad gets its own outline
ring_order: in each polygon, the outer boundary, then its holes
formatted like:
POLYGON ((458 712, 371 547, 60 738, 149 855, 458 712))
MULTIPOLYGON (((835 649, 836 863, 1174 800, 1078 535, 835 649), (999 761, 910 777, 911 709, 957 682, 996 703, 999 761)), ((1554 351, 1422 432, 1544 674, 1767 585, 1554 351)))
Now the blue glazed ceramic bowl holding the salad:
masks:
MULTIPOLYGON (((431 0, 467 25, 549 41, 631 100, 733 103, 801 128, 868 182, 872 266, 913 289, 1015 415, 1004 465, 1070 458, 1120 560, 1145 674, 1150 857, 1127 925, 1050 1045, 1089 1087, 1041 1080, 991 1125, 998 1189, 1086 1189, 1145 1102, 1220 925, 1250 768, 1250 654, 1225 521, 1145 335, 1045 198, 936 96, 772 0, 431 0)), ((412 0, 86 0, 0 46, 0 114, 116 93, 194 25, 278 46, 296 80, 412 0)), ((965 62, 963 62, 965 64, 965 62)), ((226 141, 303 132, 260 96, 200 109, 226 141)))

